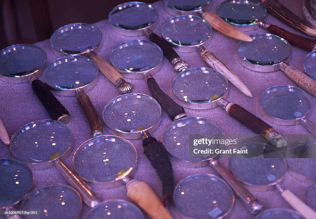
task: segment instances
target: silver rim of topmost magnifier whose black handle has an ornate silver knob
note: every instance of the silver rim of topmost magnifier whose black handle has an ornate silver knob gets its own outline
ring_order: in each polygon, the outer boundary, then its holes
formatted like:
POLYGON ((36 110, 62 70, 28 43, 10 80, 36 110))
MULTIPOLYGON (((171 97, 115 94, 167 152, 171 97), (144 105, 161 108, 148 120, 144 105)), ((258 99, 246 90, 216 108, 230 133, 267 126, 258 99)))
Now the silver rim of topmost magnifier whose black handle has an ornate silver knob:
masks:
MULTIPOLYGON (((131 18, 132 19, 132 18, 131 18)), ((154 30, 156 25, 157 25, 157 20, 158 20, 158 11, 157 9, 155 9, 154 6, 150 5, 150 4, 147 4, 147 3, 143 3, 143 2, 126 2, 126 3, 123 3, 123 4, 119 4, 118 6, 114 7, 110 13, 109 13, 109 21, 110 21, 110 27, 112 28, 112 30, 120 35, 123 35, 123 36, 142 36, 144 35, 144 32, 149 29, 149 30, 154 30), (137 6, 138 5, 138 6, 137 6), (139 7, 139 5, 143 5, 143 6, 147 6, 148 8, 150 8, 154 14, 156 14, 156 19, 155 21, 150 24, 149 26, 146 26, 146 27, 143 27, 143 28, 139 28, 139 29, 136 29, 136 30, 129 30, 129 29, 124 29, 124 28, 121 28, 121 27, 118 27, 116 26, 116 24, 114 24, 112 21, 111 21, 111 15, 117 11, 120 11, 120 10, 124 10, 124 9, 127 9, 127 8, 131 8, 131 7, 139 7)))

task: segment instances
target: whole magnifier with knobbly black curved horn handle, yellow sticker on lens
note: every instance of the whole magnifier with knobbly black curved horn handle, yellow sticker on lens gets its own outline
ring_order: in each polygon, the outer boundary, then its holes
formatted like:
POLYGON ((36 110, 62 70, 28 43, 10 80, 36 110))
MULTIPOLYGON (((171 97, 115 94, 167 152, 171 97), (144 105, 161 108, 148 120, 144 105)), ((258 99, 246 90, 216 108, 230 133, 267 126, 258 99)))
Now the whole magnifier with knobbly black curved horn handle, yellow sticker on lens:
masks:
POLYGON ((106 104, 102 117, 110 133, 143 140, 144 154, 162 182, 163 203, 171 201, 174 177, 168 152, 160 141, 150 135, 160 124, 159 103, 143 94, 120 95, 106 104))

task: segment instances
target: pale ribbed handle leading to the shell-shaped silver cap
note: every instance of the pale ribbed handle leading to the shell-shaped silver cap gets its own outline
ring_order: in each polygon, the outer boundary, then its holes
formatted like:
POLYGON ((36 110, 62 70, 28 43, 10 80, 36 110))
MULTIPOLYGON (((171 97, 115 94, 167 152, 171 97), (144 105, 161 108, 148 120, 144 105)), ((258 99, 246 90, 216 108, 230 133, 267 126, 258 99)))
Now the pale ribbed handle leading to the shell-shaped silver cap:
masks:
POLYGON ((107 79, 109 79, 112 82, 112 84, 116 85, 115 83, 119 79, 123 79, 119 72, 116 71, 116 69, 113 66, 111 66, 107 61, 102 59, 99 55, 97 55, 94 52, 90 53, 91 54, 89 54, 89 57, 98 65, 99 70, 102 72, 102 74, 104 74, 104 76, 107 79))

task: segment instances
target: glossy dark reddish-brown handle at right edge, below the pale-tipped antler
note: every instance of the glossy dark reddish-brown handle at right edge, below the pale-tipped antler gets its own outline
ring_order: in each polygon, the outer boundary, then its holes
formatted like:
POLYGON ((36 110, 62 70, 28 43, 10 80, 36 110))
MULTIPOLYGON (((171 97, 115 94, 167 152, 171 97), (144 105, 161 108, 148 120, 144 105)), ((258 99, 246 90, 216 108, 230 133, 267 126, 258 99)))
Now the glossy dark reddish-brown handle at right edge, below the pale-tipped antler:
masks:
POLYGON ((295 45, 309 51, 314 50, 314 47, 316 46, 316 40, 291 33, 281 27, 271 25, 267 29, 270 33, 286 39, 291 45, 295 45))

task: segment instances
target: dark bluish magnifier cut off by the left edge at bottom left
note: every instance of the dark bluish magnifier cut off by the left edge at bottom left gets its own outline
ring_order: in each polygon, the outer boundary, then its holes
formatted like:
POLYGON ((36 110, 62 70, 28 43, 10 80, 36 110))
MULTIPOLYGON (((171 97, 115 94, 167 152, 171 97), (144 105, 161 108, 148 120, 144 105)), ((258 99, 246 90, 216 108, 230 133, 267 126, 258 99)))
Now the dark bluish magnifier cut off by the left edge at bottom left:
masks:
POLYGON ((1 158, 0 172, 0 209, 14 210, 13 205, 24 199, 32 187, 32 171, 19 160, 1 158))

